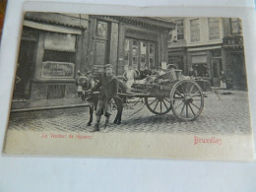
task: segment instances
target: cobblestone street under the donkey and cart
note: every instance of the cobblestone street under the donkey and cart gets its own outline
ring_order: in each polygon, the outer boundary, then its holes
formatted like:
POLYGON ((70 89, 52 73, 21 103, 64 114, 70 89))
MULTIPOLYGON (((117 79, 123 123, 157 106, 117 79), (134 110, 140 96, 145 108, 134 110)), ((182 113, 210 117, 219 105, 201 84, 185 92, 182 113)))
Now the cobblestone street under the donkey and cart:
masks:
MULTIPOLYGON (((172 134, 249 134, 251 122, 249 117, 246 92, 229 91, 206 93, 205 107, 198 119, 181 122, 170 111, 165 115, 151 113, 142 102, 130 103, 124 108, 122 124, 110 124, 109 132, 159 132, 172 134)), ((116 110, 113 110, 111 121, 116 110)), ((95 118, 96 119, 96 118, 95 118)), ((88 107, 53 109, 33 112, 11 113, 9 129, 34 131, 74 131, 88 132, 88 107)), ((101 125, 104 118, 101 119, 101 125)), ((95 121, 94 121, 95 124, 95 121)))

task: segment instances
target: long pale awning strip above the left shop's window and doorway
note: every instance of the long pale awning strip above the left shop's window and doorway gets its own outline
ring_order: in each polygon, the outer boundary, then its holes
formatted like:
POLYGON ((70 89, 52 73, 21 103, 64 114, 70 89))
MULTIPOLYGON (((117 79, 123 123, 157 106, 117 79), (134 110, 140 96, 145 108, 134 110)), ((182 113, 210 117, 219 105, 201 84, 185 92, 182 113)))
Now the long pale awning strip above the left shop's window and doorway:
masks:
POLYGON ((47 31, 47 32, 61 32, 61 33, 69 33, 69 34, 81 34, 81 30, 63 27, 63 26, 52 26, 48 24, 39 24, 32 21, 24 21, 24 26, 30 27, 37 30, 47 31))

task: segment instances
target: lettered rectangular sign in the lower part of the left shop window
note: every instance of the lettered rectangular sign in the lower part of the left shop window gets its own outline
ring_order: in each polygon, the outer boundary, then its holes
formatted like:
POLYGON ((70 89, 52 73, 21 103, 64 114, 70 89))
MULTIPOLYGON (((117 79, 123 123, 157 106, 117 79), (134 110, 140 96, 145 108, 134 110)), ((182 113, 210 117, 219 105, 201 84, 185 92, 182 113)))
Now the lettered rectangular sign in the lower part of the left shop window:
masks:
POLYGON ((41 78, 71 79, 74 78, 74 63, 47 61, 42 63, 41 78))

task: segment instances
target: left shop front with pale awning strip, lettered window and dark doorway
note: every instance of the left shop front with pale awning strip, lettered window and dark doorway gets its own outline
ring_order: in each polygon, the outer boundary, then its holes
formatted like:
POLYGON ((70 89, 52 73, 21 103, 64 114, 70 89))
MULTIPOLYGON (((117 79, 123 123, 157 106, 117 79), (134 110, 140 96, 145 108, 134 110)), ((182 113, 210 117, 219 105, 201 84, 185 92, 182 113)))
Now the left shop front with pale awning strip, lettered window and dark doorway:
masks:
POLYGON ((65 19, 70 17, 26 15, 17 70, 21 81, 16 82, 14 99, 76 96, 76 71, 81 68, 82 36, 87 25, 70 26, 65 19))

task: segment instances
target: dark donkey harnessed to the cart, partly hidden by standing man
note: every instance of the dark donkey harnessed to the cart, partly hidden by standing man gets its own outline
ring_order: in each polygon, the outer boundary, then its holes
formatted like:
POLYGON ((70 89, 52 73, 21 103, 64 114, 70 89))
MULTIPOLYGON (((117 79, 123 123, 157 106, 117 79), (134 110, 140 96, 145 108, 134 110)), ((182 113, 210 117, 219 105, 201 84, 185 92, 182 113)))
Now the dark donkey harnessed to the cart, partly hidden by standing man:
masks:
MULTIPOLYGON (((88 101, 90 108, 90 120, 87 123, 88 126, 92 125, 94 119, 94 109, 96 110, 96 105, 98 101, 98 97, 96 93, 91 93, 90 90, 96 86, 96 79, 93 74, 82 75, 76 80, 77 93, 78 96, 81 97, 81 101, 88 101)), ((126 93, 127 87, 124 83, 118 80, 118 93, 126 93)), ((122 112, 123 112, 123 103, 125 100, 125 96, 116 96, 113 98, 114 104, 117 109, 117 114, 113 121, 114 124, 121 124, 122 112)))

